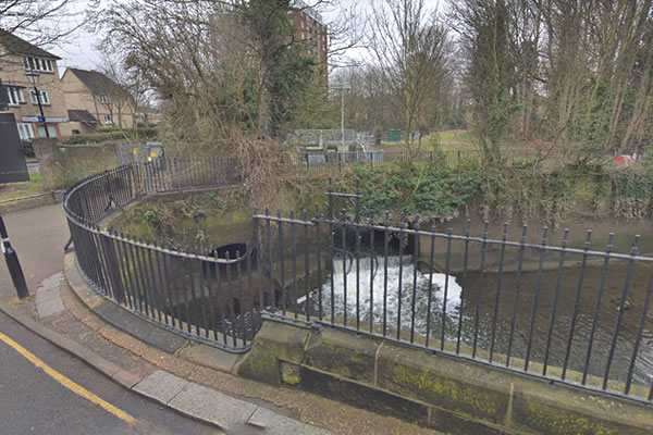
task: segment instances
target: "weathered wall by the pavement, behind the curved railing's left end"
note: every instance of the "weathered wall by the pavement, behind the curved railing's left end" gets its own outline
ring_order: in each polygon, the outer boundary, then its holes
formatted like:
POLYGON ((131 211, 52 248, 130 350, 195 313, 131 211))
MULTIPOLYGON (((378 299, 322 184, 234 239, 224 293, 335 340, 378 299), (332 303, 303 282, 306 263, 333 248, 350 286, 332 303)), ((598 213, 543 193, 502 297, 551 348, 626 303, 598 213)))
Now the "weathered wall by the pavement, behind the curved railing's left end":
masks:
POLYGON ((63 146, 57 139, 34 139, 45 190, 63 189, 79 179, 118 166, 115 144, 63 146))

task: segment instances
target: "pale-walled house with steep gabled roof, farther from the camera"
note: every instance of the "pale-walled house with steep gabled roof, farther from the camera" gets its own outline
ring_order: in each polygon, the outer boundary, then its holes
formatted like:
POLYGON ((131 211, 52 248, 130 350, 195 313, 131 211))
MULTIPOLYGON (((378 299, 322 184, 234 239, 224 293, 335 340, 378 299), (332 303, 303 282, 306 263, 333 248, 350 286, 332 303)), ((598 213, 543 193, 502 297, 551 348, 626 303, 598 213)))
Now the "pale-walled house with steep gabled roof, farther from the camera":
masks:
POLYGON ((124 88, 98 71, 69 67, 61 77, 67 109, 74 114, 70 133, 99 126, 131 128, 134 99, 124 88), (90 116, 89 116, 90 115, 90 116), (95 119, 95 123, 93 120, 95 119))

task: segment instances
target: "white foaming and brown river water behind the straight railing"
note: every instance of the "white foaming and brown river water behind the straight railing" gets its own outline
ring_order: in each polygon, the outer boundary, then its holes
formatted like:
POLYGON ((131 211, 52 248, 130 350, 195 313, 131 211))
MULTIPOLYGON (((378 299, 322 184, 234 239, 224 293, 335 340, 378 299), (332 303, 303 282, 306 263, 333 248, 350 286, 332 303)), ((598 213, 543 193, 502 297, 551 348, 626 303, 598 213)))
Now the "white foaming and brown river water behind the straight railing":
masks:
MULTIPOLYGON (((373 323, 377 325, 377 331, 380 332, 380 326, 383 325, 383 309, 385 304, 385 321, 389 330, 396 328, 398 320, 401 320, 402 330, 409 330, 412 320, 412 300, 415 298, 416 333, 424 336, 427 325, 429 325, 431 336, 438 338, 442 333, 443 302, 446 287, 446 318, 444 322, 446 340, 456 341, 458 316, 461 313, 461 343, 472 346, 478 302, 478 348, 482 350, 491 348, 493 321, 496 312, 494 352, 505 355, 508 350, 510 324, 515 310, 515 333, 512 356, 521 359, 526 358, 528 332, 531 326, 531 313, 538 281, 537 272, 522 272, 520 291, 515 309, 516 273, 503 273, 501 288, 498 288, 498 273, 484 272, 479 299, 480 273, 478 271, 469 272, 466 277, 461 274, 456 276, 449 275, 448 279, 445 274, 433 273, 432 285, 430 286, 430 273, 428 271, 420 271, 419 268, 416 271, 410 256, 404 256, 402 262, 399 262, 398 257, 390 257, 387 264, 381 257, 374 259, 361 258, 358 263, 357 269, 355 260, 347 258, 343 261, 341 258, 336 259, 333 264, 334 311, 338 318, 342 318, 346 311, 348 325, 355 325, 358 307, 361 324, 369 324, 370 316, 372 316, 373 323), (385 271, 387 271, 387 278, 385 271), (346 298, 344 291, 345 278, 346 298), (415 287, 414 281, 416 283, 415 287), (461 286, 465 286, 465 289, 461 286), (373 291, 370 291, 372 287, 373 291), (431 294, 430 311, 429 293, 431 294), (386 295, 385 300, 383 297, 384 294, 386 295), (497 300, 498 304, 496 303, 497 300)), ((651 271, 652 266, 649 264, 636 264, 633 268, 628 294, 629 308, 623 313, 621 327, 609 371, 609 377, 613 380, 626 381, 628 368, 633 356, 637 333, 644 315, 643 304, 651 278, 651 271)), ((553 314, 557 274, 556 270, 543 271, 541 274, 530 355, 531 361, 534 362, 544 361, 553 314)), ((599 315, 596 316, 592 351, 588 365, 589 374, 596 376, 605 374, 615 325, 619 314, 618 303, 623 295, 626 275, 626 261, 611 262, 606 273, 599 315)), ((551 328, 550 365, 563 366, 567 353, 567 343, 571 338, 571 346, 568 349, 568 369, 578 372, 583 371, 588 357, 601 276, 601 264, 588 265, 582 277, 580 291, 578 291, 580 266, 576 265, 564 269, 560 275, 558 301, 553 315, 553 328, 551 328), (577 294, 579 295, 578 301, 577 294), (577 307, 577 316, 574 328, 571 328, 575 307, 577 307)), ((332 299, 330 279, 326 279, 321 290, 324 312, 330 313, 332 299)), ((311 306, 313 310, 317 310, 317 300, 315 299, 311 306)), ((653 382, 653 314, 649 313, 644 319, 642 340, 634 361, 633 382, 650 386, 653 382)), ((367 327, 361 326, 361 328, 367 327)))

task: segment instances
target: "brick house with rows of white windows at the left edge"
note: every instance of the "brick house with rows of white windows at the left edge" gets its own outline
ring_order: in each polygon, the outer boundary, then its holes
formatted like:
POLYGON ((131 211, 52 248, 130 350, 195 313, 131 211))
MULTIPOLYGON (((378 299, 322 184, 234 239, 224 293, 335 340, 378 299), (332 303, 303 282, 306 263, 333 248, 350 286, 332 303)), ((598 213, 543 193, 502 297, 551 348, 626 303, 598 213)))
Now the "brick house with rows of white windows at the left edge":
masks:
POLYGON ((61 58, 0 30, 0 79, 4 87, 0 91, 9 95, 9 111, 15 115, 19 135, 24 140, 47 137, 46 128, 50 137, 60 137, 67 121, 58 60, 61 58), (38 96, 26 73, 38 77, 38 96))

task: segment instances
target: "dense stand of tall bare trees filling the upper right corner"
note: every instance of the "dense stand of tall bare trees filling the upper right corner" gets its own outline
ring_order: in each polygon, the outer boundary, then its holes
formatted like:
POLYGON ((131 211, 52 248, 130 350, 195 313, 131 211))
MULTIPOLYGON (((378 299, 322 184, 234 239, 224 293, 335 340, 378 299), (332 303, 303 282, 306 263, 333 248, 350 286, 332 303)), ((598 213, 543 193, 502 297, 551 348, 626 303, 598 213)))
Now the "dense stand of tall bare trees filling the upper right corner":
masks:
POLYGON ((460 0, 452 17, 491 153, 533 135, 582 161, 650 141, 651 0, 460 0))

